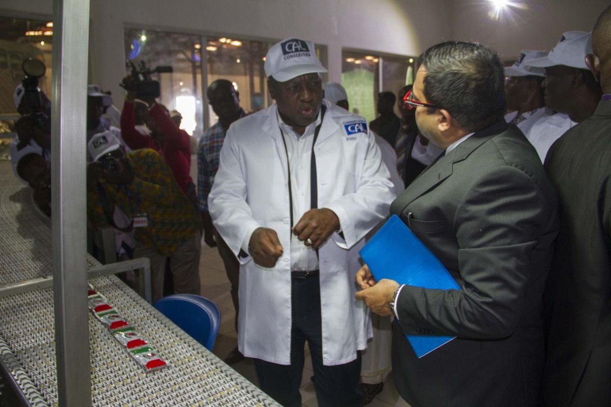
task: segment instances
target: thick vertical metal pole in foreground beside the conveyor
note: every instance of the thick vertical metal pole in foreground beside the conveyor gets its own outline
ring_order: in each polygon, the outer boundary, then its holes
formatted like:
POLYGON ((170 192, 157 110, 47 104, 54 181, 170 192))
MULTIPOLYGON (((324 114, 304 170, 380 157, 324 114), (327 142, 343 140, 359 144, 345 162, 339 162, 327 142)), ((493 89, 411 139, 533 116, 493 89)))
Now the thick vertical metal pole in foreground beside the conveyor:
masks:
POLYGON ((51 234, 59 406, 91 405, 86 262, 89 0, 53 4, 51 234))

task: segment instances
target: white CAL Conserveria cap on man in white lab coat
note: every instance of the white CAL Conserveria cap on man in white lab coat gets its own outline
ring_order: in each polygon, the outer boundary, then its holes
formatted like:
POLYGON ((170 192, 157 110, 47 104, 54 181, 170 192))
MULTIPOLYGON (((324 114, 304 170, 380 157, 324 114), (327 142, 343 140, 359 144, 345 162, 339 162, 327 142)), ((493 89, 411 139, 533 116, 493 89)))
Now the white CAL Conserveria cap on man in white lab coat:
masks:
POLYGON ((278 82, 290 81, 306 73, 327 71, 316 58, 314 43, 299 38, 287 38, 269 48, 264 68, 265 75, 278 82))

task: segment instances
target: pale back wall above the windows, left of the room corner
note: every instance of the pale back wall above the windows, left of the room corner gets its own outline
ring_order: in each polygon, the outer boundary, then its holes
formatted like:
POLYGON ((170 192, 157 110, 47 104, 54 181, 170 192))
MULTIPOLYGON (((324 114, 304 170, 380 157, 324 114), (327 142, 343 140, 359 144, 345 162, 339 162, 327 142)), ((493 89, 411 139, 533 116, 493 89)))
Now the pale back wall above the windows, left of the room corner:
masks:
MULTIPOLYGON (((4 0, 13 14, 51 15, 51 1, 4 0)), ((417 56, 450 38, 447 0, 92 0, 90 81, 122 95, 123 27, 326 45, 329 80, 341 80, 342 48, 417 56)), ((3 10, 0 10, 2 12, 3 10)), ((6 15, 6 13, 4 13, 6 15)), ((117 101, 115 101, 116 103, 117 101)))

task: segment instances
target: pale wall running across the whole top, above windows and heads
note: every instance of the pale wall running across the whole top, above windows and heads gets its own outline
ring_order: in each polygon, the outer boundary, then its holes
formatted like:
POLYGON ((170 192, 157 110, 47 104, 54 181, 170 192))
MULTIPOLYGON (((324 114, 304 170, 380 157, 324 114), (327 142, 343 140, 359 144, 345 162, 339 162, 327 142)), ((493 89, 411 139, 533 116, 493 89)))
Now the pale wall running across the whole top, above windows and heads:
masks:
MULTIPOLYGON (((417 56, 443 40, 478 40, 511 59, 549 49, 563 31, 590 31, 608 0, 522 0, 493 21, 485 0, 91 0, 90 81, 122 95, 123 27, 327 46, 329 80, 340 81, 342 48, 417 56)), ((52 15, 49 0, 2 0, 1 15, 52 15)), ((69 63, 69 62, 67 62, 69 63)))

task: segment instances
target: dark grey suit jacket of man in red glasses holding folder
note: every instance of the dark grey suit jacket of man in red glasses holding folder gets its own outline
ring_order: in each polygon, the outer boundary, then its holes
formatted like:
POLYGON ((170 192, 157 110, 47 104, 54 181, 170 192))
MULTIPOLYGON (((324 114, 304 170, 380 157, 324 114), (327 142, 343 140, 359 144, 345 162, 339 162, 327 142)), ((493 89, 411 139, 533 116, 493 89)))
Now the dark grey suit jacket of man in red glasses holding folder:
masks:
POLYGON ((530 143, 505 121, 476 132, 393 202, 459 290, 405 286, 393 375, 412 407, 535 406, 544 283, 557 199, 530 143), (416 358, 405 334, 457 338, 416 358))

